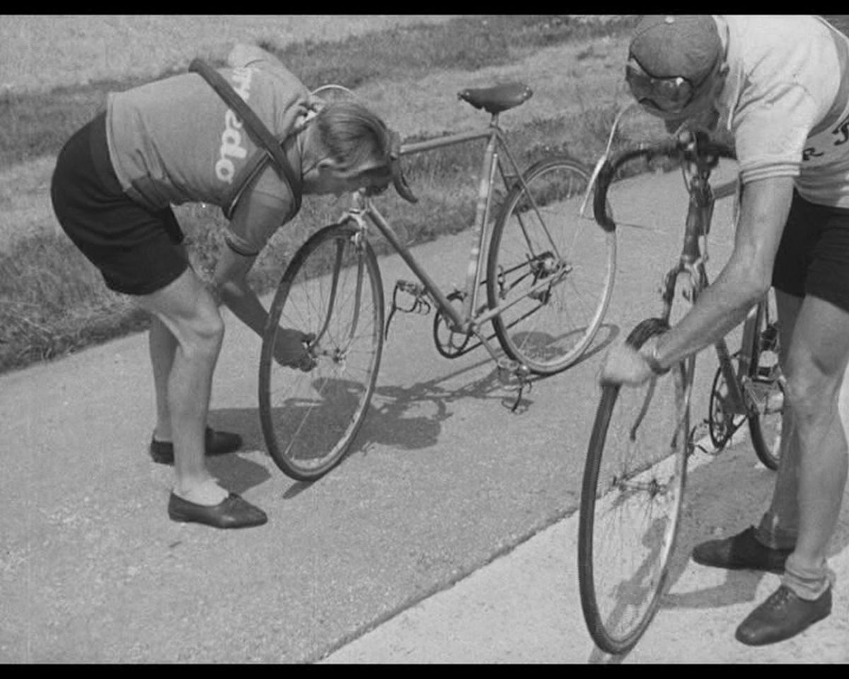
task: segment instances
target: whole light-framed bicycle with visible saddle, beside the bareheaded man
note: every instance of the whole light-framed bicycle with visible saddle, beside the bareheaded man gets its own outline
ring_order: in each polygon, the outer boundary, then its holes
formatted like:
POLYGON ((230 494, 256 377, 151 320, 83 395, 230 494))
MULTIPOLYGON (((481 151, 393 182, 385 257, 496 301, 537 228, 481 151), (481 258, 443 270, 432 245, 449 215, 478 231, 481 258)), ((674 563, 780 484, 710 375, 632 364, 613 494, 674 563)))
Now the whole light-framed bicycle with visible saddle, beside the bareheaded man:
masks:
MULTIPOLYGON (((374 205, 374 192, 367 191, 351 194, 340 220, 312 235, 280 279, 262 341, 260 418, 274 462, 295 480, 318 479, 351 449, 396 311, 435 307, 433 340, 439 353, 456 358, 484 346, 503 383, 518 386, 516 405, 531 375, 568 368, 602 322, 613 285, 615 234, 592 220, 577 221, 577 210, 571 209, 588 188, 589 171, 565 155, 520 171, 499 115, 531 98, 525 85, 467 89, 458 98, 486 111, 489 125, 405 143, 396 156, 486 140, 464 289, 445 293, 437 287, 374 205), (503 199, 495 209, 496 186, 502 184, 503 199), (369 225, 418 279, 396 282, 386 322, 369 225), (314 363, 308 372, 273 360, 281 324, 314 335, 305 345, 314 363), (489 324, 494 334, 483 332, 489 324), (493 337, 504 356, 492 345, 493 337)), ((402 198, 415 200, 400 170, 393 183, 402 198)))

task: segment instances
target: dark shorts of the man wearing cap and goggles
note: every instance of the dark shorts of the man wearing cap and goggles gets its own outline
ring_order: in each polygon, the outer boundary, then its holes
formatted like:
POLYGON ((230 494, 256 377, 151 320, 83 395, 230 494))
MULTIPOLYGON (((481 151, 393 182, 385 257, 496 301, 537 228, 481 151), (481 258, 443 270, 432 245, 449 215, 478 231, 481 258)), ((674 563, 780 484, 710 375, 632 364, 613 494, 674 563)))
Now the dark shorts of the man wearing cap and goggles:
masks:
POLYGON ((794 192, 775 255, 773 286, 849 312, 849 210, 815 205, 794 192))

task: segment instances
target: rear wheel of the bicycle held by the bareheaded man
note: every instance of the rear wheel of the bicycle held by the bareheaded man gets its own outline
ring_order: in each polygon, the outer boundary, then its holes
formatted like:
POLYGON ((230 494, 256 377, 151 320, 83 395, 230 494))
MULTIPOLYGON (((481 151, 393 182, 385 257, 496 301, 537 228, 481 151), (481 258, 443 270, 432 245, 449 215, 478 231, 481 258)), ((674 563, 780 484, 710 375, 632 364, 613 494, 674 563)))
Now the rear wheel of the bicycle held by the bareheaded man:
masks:
POLYGON ((526 186, 516 182, 509 190, 492 229, 487 302, 495 308, 520 300, 492 325, 507 356, 532 373, 553 374, 576 362, 610 303, 616 233, 579 214, 590 176, 566 156, 537 162, 523 174, 526 186), (546 278, 547 287, 528 294, 546 278))

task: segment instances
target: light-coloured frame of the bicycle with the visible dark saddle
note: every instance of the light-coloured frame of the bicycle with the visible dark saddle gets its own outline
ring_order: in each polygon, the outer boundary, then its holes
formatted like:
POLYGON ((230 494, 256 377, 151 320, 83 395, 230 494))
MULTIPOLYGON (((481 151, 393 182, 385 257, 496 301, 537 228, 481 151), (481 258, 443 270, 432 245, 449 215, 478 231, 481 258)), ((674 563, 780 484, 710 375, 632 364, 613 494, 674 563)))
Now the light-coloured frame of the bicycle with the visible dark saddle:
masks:
MULTIPOLYGON (((437 308, 450 322, 449 328, 456 333, 475 334, 475 336, 481 340, 481 343, 486 347, 486 351, 490 353, 492 358, 499 361, 498 353, 492 348, 490 342, 486 340, 486 337, 481 334, 479 328, 487 321, 490 321, 493 317, 503 313, 503 311, 508 309, 510 306, 520 302, 522 298, 517 298, 516 300, 496 306, 495 308, 487 307, 485 310, 476 311, 479 309, 478 293, 481 288, 481 283, 483 283, 483 281, 481 281, 481 269, 484 256, 486 255, 485 244, 489 235, 487 224, 490 222, 489 216, 492 208, 492 186, 496 181, 496 172, 498 172, 505 187, 508 189, 510 188, 511 181, 513 180, 520 182, 523 187, 526 187, 526 183, 524 177, 522 177, 522 172, 518 163, 509 150, 509 146, 504 138, 504 133, 498 126, 498 114, 492 115, 492 120, 486 129, 472 132, 458 132, 445 137, 428 139, 422 142, 407 143, 402 145, 401 154, 419 154, 447 146, 469 143, 477 139, 486 139, 486 150, 481 162, 481 180, 478 185, 475 222, 471 233, 469 265, 466 271, 465 285, 463 289, 464 295, 462 310, 458 310, 457 307, 451 304, 447 295, 445 295, 436 285, 434 280, 430 278, 430 275, 424 270, 424 267, 419 264, 419 261, 415 259, 407 245, 403 244, 392 231, 390 223, 387 221, 385 216, 380 214, 380 210, 378 210, 374 205, 374 200, 371 196, 368 196, 364 191, 353 194, 352 205, 347 212, 347 216, 357 222, 361 233, 363 233, 363 237, 367 237, 368 234, 366 219, 368 219, 368 222, 374 224, 374 227, 376 227, 383 237, 386 238, 392 249, 395 250, 398 255, 401 255, 402 260, 407 264, 415 276, 419 278, 422 286, 424 286, 424 292, 430 296, 430 299, 435 302, 437 308), (509 169, 512 170, 512 172, 505 171, 501 154, 509 160, 509 169)), ((532 203, 532 196, 530 194, 529 198, 531 198, 532 203)), ((532 207, 533 210, 536 210, 538 213, 537 205, 532 205, 532 207)), ((342 221, 344 221, 345 218, 346 217, 343 217, 342 221)), ((555 253, 559 255, 556 244, 554 244, 554 240, 549 238, 549 242, 555 253)), ((528 241, 528 244, 529 246, 531 245, 530 240, 528 241)), ((551 278, 544 279, 532 286, 528 294, 531 295, 532 293, 537 292, 537 290, 547 288, 551 285, 551 283, 551 278)))

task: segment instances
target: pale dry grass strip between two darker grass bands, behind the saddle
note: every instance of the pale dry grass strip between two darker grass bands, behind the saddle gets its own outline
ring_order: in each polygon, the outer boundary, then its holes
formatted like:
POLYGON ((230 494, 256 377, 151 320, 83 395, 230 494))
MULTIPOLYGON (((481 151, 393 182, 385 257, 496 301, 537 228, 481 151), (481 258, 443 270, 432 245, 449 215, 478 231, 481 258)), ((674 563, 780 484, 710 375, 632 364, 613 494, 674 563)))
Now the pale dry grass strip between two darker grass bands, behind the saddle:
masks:
MULTIPOLYGON (((486 124, 486 115, 459 101, 457 93, 465 87, 511 80, 525 81, 534 90, 534 97, 503 115, 508 128, 562 117, 577 119, 584 114, 590 122, 603 122, 604 111, 628 101, 621 82, 626 44, 624 38, 593 38, 532 51, 505 66, 474 72, 439 70, 422 78, 368 82, 357 88, 357 94, 403 137, 486 124), (597 115, 593 115, 594 110, 597 115)), ((576 124, 585 127, 588 121, 576 124)), ((597 131, 579 129, 568 136, 578 140, 572 144, 573 154, 592 162, 598 150, 597 131), (582 137, 586 141, 583 147, 582 137)), ((52 158, 41 158, 0 171, 0 251, 21 236, 57 231, 48 195, 53 162, 52 158)))

